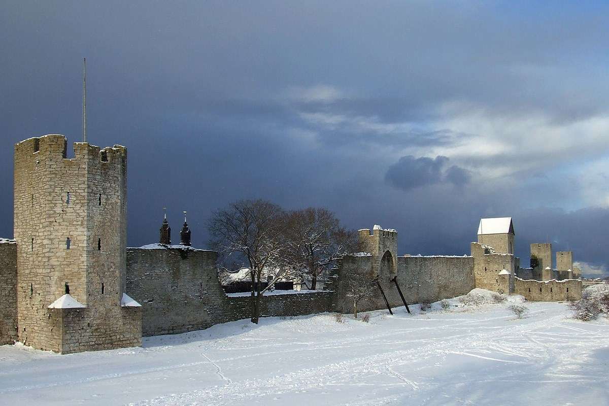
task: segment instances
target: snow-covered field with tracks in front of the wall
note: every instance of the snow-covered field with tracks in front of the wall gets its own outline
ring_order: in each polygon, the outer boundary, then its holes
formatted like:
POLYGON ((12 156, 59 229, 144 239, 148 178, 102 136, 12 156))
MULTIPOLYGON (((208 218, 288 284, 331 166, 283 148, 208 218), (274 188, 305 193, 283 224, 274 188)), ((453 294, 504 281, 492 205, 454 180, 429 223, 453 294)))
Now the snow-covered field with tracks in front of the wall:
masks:
POLYGON ((516 320, 509 304, 244 320, 71 355, 1 346, 0 404, 609 405, 607 319, 527 303, 516 320))

